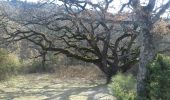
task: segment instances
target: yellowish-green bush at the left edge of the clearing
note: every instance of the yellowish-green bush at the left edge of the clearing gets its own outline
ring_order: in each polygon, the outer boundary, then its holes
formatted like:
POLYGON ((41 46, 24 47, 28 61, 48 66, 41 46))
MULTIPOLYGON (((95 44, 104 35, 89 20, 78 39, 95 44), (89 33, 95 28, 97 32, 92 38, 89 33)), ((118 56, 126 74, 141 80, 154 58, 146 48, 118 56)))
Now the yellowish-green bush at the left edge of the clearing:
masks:
POLYGON ((16 55, 0 49, 0 80, 17 74, 20 66, 20 61, 16 55))

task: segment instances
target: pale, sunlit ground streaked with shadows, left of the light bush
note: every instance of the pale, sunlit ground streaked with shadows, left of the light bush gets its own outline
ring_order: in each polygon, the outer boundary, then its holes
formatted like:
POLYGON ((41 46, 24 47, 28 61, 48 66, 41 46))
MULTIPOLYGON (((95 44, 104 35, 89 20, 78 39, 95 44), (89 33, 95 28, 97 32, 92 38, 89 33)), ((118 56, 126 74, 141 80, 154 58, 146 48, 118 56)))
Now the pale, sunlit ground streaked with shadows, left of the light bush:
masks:
POLYGON ((106 85, 99 85, 103 81, 61 80, 49 74, 17 76, 0 82, 0 100, 116 100, 106 85))

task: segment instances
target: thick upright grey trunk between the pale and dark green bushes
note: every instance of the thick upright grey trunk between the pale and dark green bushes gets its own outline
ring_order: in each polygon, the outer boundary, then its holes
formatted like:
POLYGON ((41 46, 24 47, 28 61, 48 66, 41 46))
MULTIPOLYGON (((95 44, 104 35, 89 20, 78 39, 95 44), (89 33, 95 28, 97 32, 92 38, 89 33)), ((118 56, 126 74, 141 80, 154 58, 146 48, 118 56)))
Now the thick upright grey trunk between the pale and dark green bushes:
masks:
POLYGON ((149 89, 147 88, 148 64, 154 59, 156 49, 153 43, 153 34, 150 32, 151 24, 143 26, 141 33, 142 44, 140 48, 140 62, 137 75, 137 100, 149 99, 149 89))

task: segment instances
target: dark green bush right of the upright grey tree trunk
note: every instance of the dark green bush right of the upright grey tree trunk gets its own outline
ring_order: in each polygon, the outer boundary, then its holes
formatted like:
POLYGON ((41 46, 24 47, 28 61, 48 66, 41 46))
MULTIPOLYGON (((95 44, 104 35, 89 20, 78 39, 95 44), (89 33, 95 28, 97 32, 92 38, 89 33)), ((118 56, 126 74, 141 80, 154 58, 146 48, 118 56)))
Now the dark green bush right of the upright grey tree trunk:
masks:
POLYGON ((151 100, 170 100, 170 57, 157 55, 148 69, 151 100))

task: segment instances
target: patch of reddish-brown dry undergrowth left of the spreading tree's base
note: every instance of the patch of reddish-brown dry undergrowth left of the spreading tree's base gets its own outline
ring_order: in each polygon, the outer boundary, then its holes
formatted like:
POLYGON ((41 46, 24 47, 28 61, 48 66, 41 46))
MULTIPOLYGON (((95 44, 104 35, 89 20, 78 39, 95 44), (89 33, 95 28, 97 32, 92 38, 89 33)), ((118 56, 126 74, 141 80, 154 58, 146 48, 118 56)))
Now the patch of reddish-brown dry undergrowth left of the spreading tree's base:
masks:
POLYGON ((100 79, 104 74, 95 66, 60 66, 56 69, 58 78, 85 78, 88 80, 100 79))

